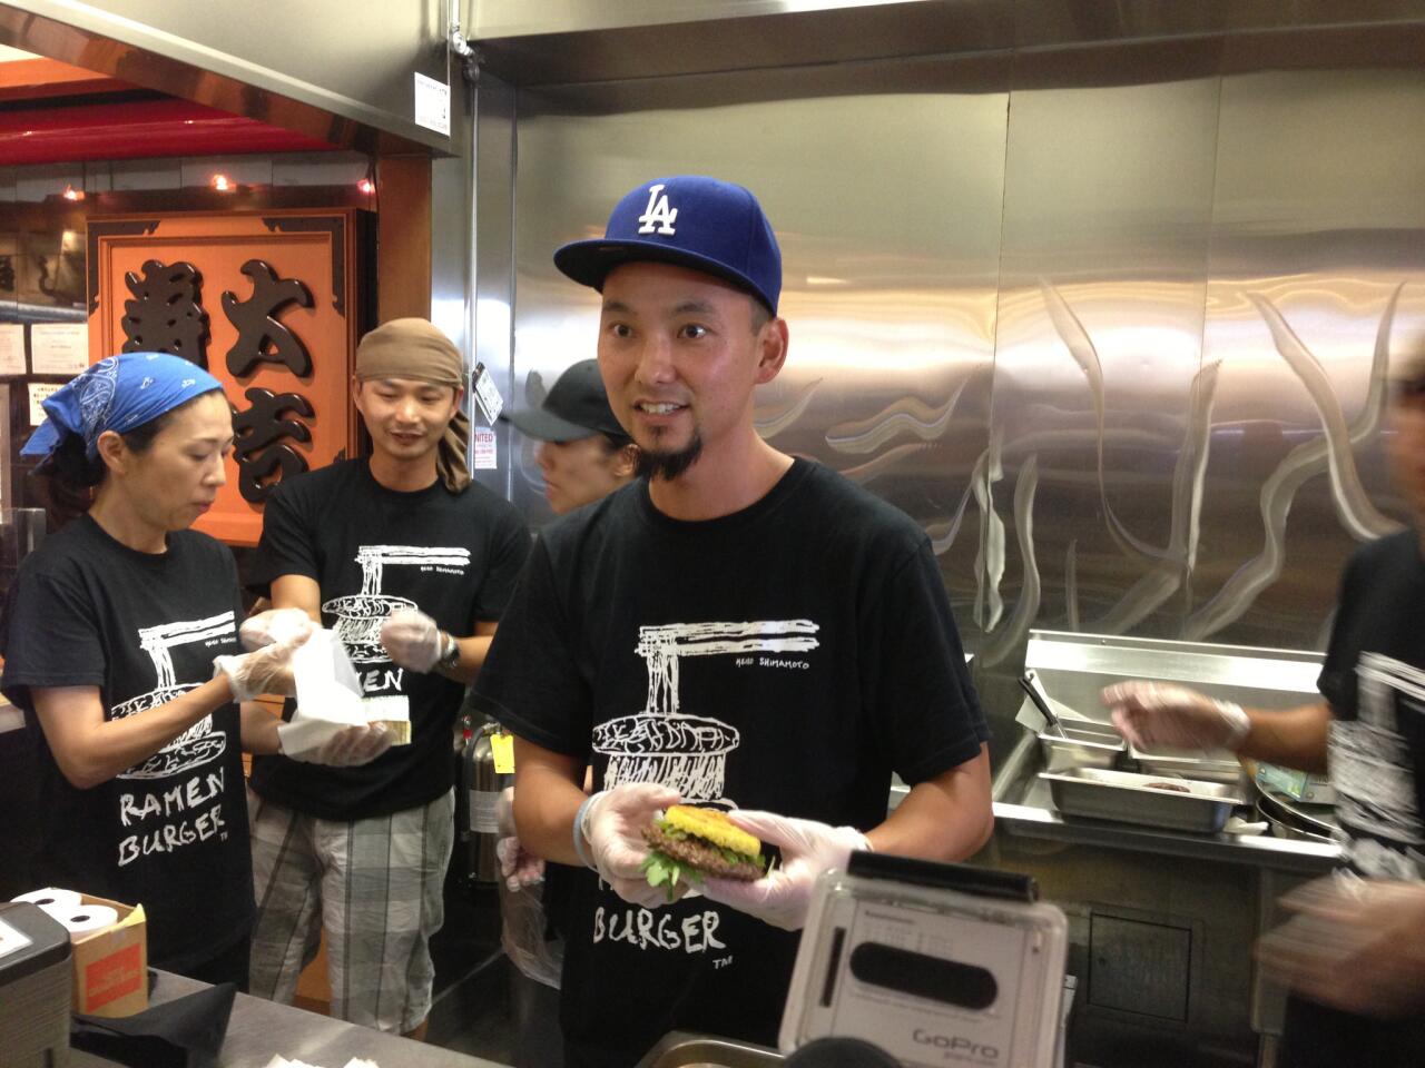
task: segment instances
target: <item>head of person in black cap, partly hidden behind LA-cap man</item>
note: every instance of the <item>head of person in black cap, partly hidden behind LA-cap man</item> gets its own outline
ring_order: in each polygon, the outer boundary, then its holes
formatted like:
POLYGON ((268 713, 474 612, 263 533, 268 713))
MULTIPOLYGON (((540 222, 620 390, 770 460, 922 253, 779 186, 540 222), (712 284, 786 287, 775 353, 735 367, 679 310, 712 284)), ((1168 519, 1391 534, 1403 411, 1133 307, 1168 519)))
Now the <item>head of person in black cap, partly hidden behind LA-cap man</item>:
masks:
POLYGON ((539 407, 506 409, 500 419, 540 443, 536 456, 544 497, 556 515, 613 493, 638 466, 637 446, 608 407, 598 360, 574 363, 539 407))

